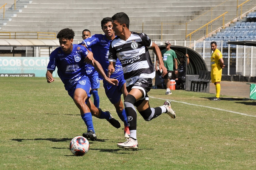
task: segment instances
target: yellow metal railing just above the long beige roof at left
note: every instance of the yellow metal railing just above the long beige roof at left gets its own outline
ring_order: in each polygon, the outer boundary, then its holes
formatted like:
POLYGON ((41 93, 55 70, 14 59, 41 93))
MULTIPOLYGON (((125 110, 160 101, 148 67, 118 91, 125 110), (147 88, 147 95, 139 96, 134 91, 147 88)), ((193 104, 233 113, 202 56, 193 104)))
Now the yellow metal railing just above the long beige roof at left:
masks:
POLYGON ((56 39, 54 32, 0 32, 0 39, 56 39))

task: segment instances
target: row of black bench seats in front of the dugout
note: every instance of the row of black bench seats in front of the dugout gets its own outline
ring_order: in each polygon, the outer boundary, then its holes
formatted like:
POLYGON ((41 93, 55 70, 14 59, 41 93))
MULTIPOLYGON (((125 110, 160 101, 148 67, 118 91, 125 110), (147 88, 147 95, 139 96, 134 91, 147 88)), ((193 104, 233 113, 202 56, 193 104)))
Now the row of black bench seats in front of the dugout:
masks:
POLYGON ((211 72, 206 71, 206 70, 200 70, 199 71, 199 76, 197 79, 191 79, 191 86, 190 86, 190 91, 201 91, 201 85, 202 91, 206 92, 206 89, 208 88, 208 83, 211 81, 211 72))

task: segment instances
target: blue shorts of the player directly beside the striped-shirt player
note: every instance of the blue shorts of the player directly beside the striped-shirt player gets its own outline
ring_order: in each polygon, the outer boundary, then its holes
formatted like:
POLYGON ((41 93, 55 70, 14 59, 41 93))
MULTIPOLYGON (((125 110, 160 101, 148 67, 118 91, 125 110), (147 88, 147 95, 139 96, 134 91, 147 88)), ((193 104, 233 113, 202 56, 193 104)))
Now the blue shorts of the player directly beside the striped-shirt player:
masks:
POLYGON ((120 100, 121 95, 123 94, 122 86, 125 84, 124 75, 115 77, 114 79, 118 80, 118 86, 115 86, 103 80, 105 93, 112 104, 115 104, 120 100))

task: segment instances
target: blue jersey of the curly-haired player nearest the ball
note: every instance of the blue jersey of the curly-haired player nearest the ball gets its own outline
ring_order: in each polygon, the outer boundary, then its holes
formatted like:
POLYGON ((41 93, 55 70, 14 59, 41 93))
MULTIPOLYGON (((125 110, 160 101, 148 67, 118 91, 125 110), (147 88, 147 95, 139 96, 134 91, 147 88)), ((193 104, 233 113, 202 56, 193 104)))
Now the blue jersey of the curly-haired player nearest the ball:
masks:
POLYGON ((55 70, 58 68, 58 75, 64 83, 65 89, 72 88, 86 74, 84 58, 88 51, 84 46, 73 44, 72 52, 66 54, 61 47, 56 48, 50 54, 50 61, 47 70, 55 70))

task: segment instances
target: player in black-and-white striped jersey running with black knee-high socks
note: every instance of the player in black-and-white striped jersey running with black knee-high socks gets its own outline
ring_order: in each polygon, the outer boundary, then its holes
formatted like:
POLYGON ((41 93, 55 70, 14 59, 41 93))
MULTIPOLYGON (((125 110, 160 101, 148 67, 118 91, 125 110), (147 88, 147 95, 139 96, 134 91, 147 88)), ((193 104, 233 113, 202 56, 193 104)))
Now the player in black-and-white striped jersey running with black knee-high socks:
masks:
POLYGON ((169 101, 165 101, 164 105, 160 107, 150 108, 149 106, 147 93, 152 88, 155 69, 147 47, 151 47, 157 55, 159 69, 163 70, 163 76, 167 74, 167 69, 164 67, 159 47, 146 34, 129 30, 129 17, 125 13, 121 12, 112 16, 112 24, 117 37, 113 39, 109 48, 108 76, 115 71, 115 63, 119 59, 128 91, 124 107, 130 130, 129 140, 118 143, 117 146, 125 149, 137 149, 137 113, 134 106, 137 107, 145 121, 150 121, 162 113, 167 113, 175 118, 169 101))

